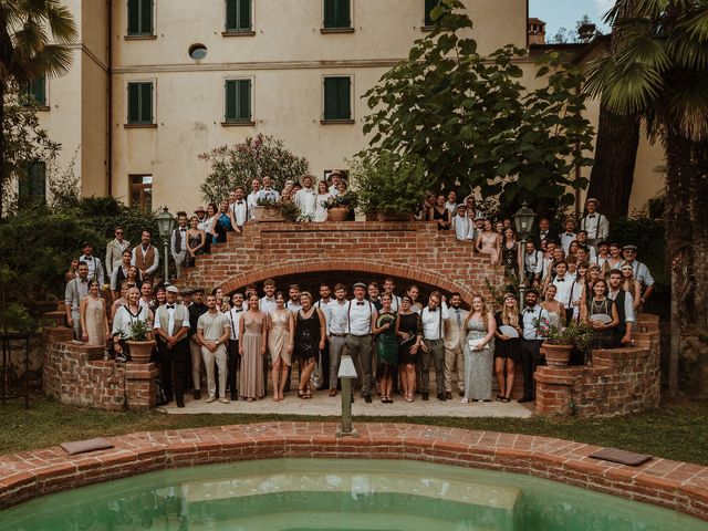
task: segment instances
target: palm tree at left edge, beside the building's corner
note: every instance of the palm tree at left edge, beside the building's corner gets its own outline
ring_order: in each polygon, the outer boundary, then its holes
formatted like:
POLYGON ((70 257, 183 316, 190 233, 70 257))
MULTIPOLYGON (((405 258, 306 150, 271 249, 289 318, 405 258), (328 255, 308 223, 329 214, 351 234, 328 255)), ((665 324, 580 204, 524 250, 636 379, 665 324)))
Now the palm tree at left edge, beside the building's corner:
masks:
POLYGON ((74 19, 59 0, 0 0, 0 197, 17 171, 8 163, 3 127, 10 84, 65 74, 72 61, 69 44, 75 38, 74 19))

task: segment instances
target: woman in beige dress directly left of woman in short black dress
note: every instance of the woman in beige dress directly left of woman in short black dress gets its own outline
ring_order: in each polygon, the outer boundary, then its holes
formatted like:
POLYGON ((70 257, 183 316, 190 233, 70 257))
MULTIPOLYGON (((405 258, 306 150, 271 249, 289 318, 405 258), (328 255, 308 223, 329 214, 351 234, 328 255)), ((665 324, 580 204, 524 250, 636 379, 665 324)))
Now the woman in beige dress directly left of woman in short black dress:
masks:
POLYGON ((285 308, 283 292, 275 293, 275 310, 268 312, 268 352, 271 356, 271 375, 273 378, 273 402, 284 399, 283 392, 291 366, 293 322, 285 308))

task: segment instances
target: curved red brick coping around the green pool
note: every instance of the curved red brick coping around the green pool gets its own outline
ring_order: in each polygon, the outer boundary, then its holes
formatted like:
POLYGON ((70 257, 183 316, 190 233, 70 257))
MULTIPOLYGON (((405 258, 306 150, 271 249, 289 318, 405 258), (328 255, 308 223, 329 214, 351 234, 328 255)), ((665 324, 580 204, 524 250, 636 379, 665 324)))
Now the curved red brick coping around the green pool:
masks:
POLYGON ((0 456, 0 509, 40 496, 167 468, 270 458, 407 459, 503 470, 657 504, 708 521, 708 467, 653 458, 628 467, 564 439, 412 424, 272 421, 107 437, 107 450, 61 447, 0 456))

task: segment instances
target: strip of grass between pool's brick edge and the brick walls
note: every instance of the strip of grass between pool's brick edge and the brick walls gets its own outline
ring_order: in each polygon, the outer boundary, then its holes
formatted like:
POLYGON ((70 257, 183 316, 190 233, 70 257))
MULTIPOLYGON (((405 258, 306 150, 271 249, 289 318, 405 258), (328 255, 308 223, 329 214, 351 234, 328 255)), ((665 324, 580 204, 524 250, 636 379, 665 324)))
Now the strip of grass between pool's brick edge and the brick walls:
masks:
MULTIPOLYGON (((148 429, 293 419, 337 420, 336 417, 293 418, 285 415, 110 413, 65 406, 45 398, 34 399, 25 410, 18 399, 0 406, 0 455, 148 429)), ((665 400, 659 409, 612 418, 367 417, 366 420, 542 435, 708 466, 708 400, 665 400)))

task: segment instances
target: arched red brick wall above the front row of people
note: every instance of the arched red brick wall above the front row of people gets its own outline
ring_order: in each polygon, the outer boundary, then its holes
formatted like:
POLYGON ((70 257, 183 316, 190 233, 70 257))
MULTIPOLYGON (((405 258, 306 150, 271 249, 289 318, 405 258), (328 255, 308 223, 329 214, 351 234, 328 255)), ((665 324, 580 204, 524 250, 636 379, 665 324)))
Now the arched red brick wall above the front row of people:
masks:
POLYGON ((233 292, 271 277, 326 271, 403 278, 459 291, 467 303, 472 293, 488 294, 485 279, 502 280, 486 254, 473 254, 471 243, 434 222, 347 221, 248 223, 242 235, 231 232, 227 243, 198 257, 184 283, 233 292))

